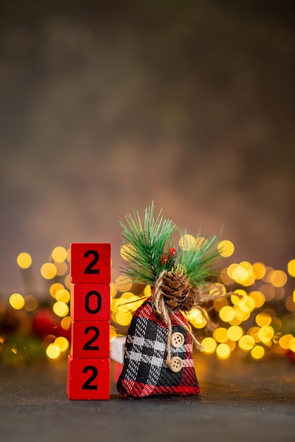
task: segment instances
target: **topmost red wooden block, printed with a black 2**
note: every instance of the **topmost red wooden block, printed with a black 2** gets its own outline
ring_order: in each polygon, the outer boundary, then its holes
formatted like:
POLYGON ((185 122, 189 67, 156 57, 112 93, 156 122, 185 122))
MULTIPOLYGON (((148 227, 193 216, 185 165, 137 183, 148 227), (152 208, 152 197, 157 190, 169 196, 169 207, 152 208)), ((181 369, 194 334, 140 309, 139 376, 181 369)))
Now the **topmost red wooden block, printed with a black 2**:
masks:
POLYGON ((111 282, 111 244, 72 243, 71 282, 111 282))

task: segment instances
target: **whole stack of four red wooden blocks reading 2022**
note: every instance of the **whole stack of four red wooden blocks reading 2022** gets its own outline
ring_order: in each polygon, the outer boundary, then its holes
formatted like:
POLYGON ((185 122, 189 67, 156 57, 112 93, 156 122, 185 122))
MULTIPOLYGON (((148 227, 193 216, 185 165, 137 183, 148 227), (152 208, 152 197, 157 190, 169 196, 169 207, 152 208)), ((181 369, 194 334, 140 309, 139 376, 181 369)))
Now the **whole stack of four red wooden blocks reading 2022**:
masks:
POLYGON ((110 244, 71 244, 71 354, 67 395, 109 399, 110 244))

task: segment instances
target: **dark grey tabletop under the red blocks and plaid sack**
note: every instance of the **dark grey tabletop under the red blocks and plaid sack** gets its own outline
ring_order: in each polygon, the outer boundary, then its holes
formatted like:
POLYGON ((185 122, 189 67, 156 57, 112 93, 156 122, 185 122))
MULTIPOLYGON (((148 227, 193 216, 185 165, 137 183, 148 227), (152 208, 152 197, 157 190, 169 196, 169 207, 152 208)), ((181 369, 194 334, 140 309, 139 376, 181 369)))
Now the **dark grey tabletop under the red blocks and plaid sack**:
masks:
POLYGON ((66 397, 66 364, 0 367, 0 438, 14 441, 295 441, 295 365, 196 355, 199 396, 66 397))

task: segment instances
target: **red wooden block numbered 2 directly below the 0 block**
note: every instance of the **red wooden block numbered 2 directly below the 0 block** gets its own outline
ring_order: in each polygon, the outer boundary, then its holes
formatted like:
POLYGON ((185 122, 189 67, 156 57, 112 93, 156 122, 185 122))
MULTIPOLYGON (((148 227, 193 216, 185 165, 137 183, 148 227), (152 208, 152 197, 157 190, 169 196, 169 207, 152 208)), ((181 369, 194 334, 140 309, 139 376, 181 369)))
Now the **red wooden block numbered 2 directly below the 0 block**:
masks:
POLYGON ((73 321, 71 354, 80 358, 108 358, 109 321, 73 321))

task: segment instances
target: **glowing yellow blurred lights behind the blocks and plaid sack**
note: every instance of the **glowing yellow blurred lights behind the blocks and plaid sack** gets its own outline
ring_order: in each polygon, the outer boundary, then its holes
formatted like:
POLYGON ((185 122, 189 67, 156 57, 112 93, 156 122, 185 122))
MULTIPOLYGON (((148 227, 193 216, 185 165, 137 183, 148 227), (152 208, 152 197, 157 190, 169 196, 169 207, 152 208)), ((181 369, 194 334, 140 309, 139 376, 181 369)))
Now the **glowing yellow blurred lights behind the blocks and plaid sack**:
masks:
MULTIPOLYGON (((198 248, 206 244, 204 237, 193 237, 186 234, 179 240, 183 249, 198 248)), ((234 254, 232 241, 223 240, 217 245, 221 258, 228 259, 234 254)), ((131 246, 121 248, 121 258, 128 260, 132 254, 131 246)), ((70 251, 62 246, 56 246, 49 256, 49 261, 40 268, 44 280, 49 281, 48 301, 51 309, 60 323, 61 329, 71 330, 70 277, 68 274, 70 251)), ((22 269, 32 265, 29 253, 22 252, 17 258, 18 266, 22 269)), ((230 297, 212 301, 211 312, 217 318, 217 327, 208 331, 208 313, 202 314, 198 309, 187 313, 191 327, 198 336, 203 338, 202 345, 205 354, 215 354, 219 359, 228 359, 231 354, 238 352, 248 354, 254 360, 263 359, 270 352, 295 353, 295 326, 291 330, 284 329, 283 316, 293 318, 295 313, 295 290, 291 293, 286 289, 289 277, 295 277, 295 259, 287 263, 286 271, 272 268, 260 261, 250 263, 240 261, 229 263, 220 270, 220 284, 223 292, 230 290, 230 297)), ((112 268, 110 283, 111 325, 110 341, 117 335, 125 335, 131 323, 134 311, 151 294, 149 285, 135 285, 125 275, 119 275, 112 268)), ((24 309, 34 314, 40 306, 34 294, 14 293, 9 298, 13 309, 24 309)), ((0 337, 1 344, 5 341, 0 337)), ((64 336, 52 335, 49 342, 44 342, 46 355, 49 360, 56 360, 69 351, 69 340, 64 336)), ((13 351, 13 349, 11 349, 13 351)))

